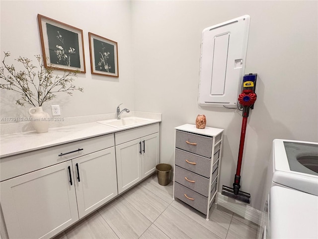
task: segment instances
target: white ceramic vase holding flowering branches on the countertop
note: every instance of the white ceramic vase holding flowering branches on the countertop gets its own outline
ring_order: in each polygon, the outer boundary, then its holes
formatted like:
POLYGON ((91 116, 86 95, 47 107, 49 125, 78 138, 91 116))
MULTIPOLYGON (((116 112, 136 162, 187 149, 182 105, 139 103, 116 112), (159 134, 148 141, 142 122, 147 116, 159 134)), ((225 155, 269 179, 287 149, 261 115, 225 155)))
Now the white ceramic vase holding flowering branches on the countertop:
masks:
POLYGON ((31 124, 37 133, 49 131, 50 115, 43 111, 42 106, 29 109, 31 124))

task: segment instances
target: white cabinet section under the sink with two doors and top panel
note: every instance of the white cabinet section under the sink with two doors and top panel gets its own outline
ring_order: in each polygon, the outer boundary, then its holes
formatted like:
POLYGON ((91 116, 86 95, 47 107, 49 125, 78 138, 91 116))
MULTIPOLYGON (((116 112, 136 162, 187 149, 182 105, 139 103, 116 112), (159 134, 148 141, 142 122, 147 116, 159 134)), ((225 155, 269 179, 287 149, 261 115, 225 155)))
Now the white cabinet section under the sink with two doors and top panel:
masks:
POLYGON ((152 174, 159 163, 159 123, 115 133, 118 193, 152 174))

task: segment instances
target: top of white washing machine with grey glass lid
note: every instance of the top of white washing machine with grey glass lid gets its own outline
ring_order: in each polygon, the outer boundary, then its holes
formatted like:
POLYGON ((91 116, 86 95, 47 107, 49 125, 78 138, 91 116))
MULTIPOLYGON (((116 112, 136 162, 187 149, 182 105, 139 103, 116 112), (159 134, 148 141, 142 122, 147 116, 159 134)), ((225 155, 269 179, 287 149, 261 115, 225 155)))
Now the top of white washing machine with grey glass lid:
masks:
POLYGON ((318 143, 274 139, 272 181, 318 196, 318 173, 299 159, 318 156, 318 143))

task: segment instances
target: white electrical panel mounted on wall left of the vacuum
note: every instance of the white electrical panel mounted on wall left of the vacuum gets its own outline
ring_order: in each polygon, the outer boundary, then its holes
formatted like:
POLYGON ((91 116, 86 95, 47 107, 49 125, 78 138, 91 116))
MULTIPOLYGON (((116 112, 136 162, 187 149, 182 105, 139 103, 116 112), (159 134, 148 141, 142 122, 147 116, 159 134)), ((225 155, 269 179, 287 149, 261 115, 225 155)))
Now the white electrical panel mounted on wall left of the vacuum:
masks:
POLYGON ((249 15, 244 15, 202 31, 199 105, 237 106, 249 19, 249 15))

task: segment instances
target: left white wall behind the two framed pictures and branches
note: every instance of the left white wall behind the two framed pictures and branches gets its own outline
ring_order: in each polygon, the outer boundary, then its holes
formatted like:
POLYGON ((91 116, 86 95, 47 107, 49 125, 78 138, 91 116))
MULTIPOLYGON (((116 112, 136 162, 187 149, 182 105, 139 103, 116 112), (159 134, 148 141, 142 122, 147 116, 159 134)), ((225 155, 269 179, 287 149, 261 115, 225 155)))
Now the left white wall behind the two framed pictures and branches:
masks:
MULTIPOLYGON (((1 0, 0 8, 0 55, 2 61, 3 51, 11 52, 7 63, 13 63, 19 55, 37 63, 34 55, 42 54, 38 13, 83 31, 86 73, 78 74, 74 84, 83 87, 84 92, 74 92, 73 96, 58 93, 56 99, 43 105, 46 112, 51 114, 51 105, 60 105, 64 118, 115 113, 120 103, 134 110, 130 1, 1 0), (118 43, 119 78, 90 73, 88 32, 118 43)), ((63 74, 63 71, 55 73, 63 74)), ((31 106, 15 105, 17 99, 16 94, 1 90, 1 118, 28 117, 31 106)), ((1 121, 6 122, 11 121, 1 121)))

